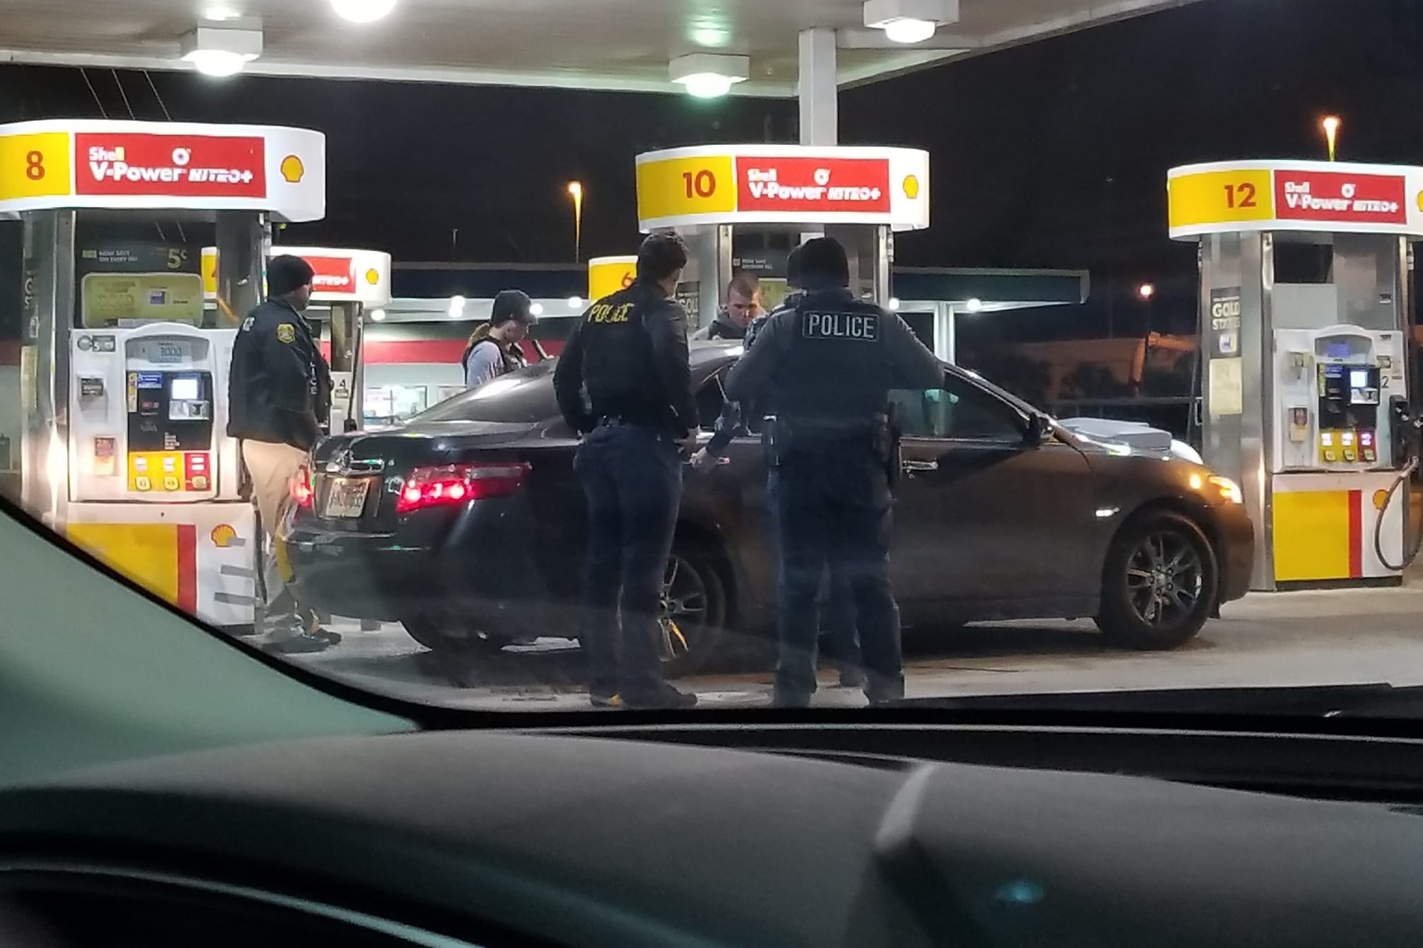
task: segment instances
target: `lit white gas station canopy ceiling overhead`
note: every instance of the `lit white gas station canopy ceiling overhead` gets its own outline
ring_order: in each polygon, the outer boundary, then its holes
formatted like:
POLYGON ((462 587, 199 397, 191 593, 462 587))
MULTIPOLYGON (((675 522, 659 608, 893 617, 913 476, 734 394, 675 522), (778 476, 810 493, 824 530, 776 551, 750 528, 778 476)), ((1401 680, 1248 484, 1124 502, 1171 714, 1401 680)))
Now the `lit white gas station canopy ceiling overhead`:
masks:
POLYGON ((0 63, 188 68, 199 26, 259 31, 263 75, 673 91, 669 61, 744 56, 739 94, 795 94, 795 36, 837 31, 838 80, 865 83, 948 57, 989 51, 1191 0, 961 0, 956 20, 901 46, 864 26, 861 0, 400 0, 371 24, 329 3, 292 0, 7 0, 0 63))

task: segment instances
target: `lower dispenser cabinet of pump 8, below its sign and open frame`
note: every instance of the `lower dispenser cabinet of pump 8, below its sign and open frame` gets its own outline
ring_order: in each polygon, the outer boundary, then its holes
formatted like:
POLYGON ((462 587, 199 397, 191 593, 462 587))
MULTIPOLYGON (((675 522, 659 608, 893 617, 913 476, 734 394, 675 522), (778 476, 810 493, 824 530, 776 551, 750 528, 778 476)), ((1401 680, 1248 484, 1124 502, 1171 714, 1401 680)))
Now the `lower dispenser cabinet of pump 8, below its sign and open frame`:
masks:
POLYGON ((235 335, 85 329, 70 353, 67 535, 213 625, 252 621, 255 524, 223 430, 235 335))

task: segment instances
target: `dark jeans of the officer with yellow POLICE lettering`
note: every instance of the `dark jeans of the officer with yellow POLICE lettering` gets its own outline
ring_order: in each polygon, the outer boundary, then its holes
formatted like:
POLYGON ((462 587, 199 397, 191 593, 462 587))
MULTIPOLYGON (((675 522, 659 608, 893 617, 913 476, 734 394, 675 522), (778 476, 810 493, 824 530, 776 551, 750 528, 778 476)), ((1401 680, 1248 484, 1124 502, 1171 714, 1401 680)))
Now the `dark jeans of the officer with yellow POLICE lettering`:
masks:
POLYGON ((682 501, 669 434, 601 424, 573 461, 588 498, 588 572, 579 638, 589 690, 652 697, 662 688, 657 613, 682 501))

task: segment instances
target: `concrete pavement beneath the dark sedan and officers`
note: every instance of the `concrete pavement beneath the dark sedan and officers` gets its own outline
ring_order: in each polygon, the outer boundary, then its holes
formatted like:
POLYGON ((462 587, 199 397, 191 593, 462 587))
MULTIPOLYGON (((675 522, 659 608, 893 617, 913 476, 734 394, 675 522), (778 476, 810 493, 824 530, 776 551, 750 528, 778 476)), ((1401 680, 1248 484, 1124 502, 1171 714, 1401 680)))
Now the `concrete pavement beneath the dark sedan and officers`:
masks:
MULTIPOLYGON (((1107 648, 1090 622, 1000 622, 946 632, 911 631, 911 696, 1073 692, 1138 688, 1289 686, 1389 682, 1423 685, 1423 571, 1393 589, 1254 594, 1225 606, 1174 652, 1107 648)), ((299 660, 361 688, 478 709, 585 709, 582 660, 568 639, 509 646, 458 675, 433 660, 404 629, 334 626, 342 645, 299 660)), ((824 672, 815 705, 864 703, 824 672)), ((704 706, 768 700, 770 675, 682 679, 704 706)))

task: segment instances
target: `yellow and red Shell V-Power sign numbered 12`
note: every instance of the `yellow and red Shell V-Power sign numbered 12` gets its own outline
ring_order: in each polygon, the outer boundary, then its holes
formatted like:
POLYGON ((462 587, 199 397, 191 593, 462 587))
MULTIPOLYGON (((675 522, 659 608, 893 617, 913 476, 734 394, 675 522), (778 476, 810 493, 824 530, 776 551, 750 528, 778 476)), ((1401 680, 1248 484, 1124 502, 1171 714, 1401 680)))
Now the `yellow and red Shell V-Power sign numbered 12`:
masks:
POLYGON ((1171 236, 1238 231, 1423 238, 1423 168, 1332 161, 1224 161, 1167 174, 1171 236))

